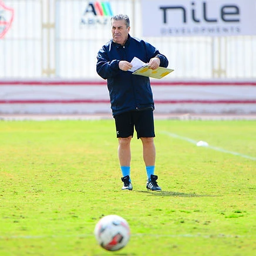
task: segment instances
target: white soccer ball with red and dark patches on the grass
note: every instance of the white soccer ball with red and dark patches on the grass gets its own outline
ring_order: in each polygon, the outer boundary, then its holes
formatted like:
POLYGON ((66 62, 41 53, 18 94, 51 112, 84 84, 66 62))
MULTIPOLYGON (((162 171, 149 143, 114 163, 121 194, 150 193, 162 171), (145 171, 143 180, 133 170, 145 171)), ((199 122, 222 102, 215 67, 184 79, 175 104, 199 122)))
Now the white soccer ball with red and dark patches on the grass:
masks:
POLYGON ((129 224, 118 215, 101 218, 95 226, 94 233, 99 245, 107 251, 122 249, 130 239, 129 224))

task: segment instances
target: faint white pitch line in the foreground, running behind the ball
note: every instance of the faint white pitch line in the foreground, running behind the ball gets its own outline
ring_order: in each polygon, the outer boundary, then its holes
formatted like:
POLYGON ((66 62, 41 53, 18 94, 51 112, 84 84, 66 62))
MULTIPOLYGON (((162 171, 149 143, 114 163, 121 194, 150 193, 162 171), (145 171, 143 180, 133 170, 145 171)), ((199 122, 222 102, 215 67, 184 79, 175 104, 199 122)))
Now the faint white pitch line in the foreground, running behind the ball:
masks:
MULTIPOLYGON (((210 235, 203 235, 203 234, 146 234, 146 233, 136 233, 132 234, 132 237, 188 237, 188 238, 195 238, 195 237, 202 237, 202 238, 238 238, 244 237, 244 235, 229 235, 229 234, 210 234, 210 235)), ((73 235, 11 235, 11 236, 0 236, 0 240, 10 240, 10 239, 43 239, 43 238, 85 238, 85 237, 94 237, 94 234, 73 234, 73 235)))

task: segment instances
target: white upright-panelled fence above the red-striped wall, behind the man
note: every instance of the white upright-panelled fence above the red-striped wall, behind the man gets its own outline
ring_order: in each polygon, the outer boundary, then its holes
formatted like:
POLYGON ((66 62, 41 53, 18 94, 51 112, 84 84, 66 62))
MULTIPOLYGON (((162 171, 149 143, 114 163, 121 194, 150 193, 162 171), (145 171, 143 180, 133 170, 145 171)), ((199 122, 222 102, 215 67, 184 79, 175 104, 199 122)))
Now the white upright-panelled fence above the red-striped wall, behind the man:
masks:
MULTIPOLYGON (((111 38, 109 16, 112 14, 128 14, 131 35, 142 38, 139 0, 109 1, 112 12, 94 19, 87 17, 91 6, 99 3, 96 1, 5 0, 4 3, 14 9, 14 20, 0 39, 0 78, 98 78, 96 54, 111 38)), ((3 22, 3 8, 0 17, 3 22)), ((256 78, 256 36, 144 39, 156 45, 176 69, 169 79, 256 78)))

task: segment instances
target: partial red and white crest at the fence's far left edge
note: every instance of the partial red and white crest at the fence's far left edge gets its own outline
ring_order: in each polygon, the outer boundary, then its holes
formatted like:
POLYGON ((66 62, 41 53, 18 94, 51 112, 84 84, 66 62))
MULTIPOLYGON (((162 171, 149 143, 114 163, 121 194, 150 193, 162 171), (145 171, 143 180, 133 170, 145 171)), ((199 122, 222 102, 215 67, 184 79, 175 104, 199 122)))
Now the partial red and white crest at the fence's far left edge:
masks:
POLYGON ((13 20, 14 9, 7 7, 4 2, 0 0, 0 39, 4 38, 13 20))

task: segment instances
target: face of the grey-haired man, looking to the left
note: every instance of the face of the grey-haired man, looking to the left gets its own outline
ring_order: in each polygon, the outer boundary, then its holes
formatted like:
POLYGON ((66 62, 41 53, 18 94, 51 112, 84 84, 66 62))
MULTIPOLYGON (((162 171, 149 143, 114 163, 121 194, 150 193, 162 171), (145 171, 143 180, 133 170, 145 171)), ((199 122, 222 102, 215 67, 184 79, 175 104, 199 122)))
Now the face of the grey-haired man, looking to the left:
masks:
POLYGON ((126 23, 123 19, 116 21, 112 20, 112 37, 113 41, 123 45, 126 42, 130 27, 126 28, 126 23))

